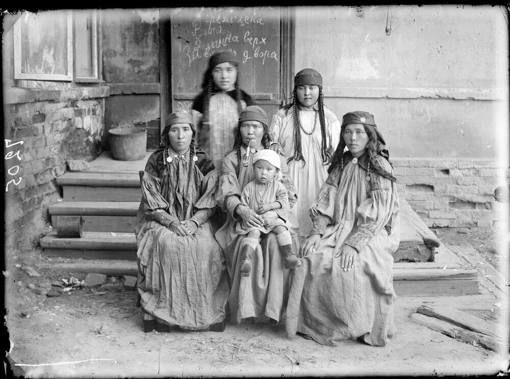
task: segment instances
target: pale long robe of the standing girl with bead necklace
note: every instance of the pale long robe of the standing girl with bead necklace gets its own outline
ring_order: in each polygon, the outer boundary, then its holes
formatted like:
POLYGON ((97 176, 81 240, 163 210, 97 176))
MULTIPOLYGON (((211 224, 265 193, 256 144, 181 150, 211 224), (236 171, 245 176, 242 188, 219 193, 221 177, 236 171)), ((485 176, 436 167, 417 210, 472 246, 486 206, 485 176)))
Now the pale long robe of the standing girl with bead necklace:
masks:
MULTIPOLYGON (((307 132, 313 130, 317 104, 313 109, 301 108, 301 125, 307 132)), ((340 123, 335 113, 324 108, 326 124, 326 146, 333 154, 340 140, 340 123)), ((327 178, 327 165, 322 163, 322 137, 320 121, 317 116, 317 128, 311 135, 301 133, 301 152, 303 160, 292 159, 289 162, 289 173, 297 189, 297 204, 291 209, 290 223, 293 230, 300 236, 305 237, 312 228, 308 215, 310 205, 317 197, 320 186, 327 178)), ((282 145, 287 158, 294 156, 294 106, 279 110, 274 116, 270 127, 271 140, 282 145)))

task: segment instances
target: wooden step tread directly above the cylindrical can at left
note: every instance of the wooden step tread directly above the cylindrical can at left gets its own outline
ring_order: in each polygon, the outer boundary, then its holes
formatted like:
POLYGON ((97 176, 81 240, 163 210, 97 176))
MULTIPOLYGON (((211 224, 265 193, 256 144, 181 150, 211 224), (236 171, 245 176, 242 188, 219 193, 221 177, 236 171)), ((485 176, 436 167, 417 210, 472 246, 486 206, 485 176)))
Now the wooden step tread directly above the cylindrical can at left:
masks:
POLYGON ((53 204, 49 214, 69 216, 136 216, 140 202, 68 201, 53 204))

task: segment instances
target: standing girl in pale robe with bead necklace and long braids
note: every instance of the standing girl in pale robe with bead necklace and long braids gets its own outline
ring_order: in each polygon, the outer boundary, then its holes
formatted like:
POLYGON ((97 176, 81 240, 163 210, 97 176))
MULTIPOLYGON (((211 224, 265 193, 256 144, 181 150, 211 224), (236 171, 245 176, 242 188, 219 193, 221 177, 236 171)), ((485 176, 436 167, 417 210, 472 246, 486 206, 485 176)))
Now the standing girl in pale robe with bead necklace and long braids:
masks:
POLYGON ((327 178, 331 154, 340 139, 337 116, 324 106, 322 77, 305 68, 294 77, 292 103, 273 116, 271 148, 289 157, 289 172, 297 188, 297 204, 290 222, 307 237, 312 229, 308 209, 327 178), (277 143, 277 144, 276 144, 277 143))

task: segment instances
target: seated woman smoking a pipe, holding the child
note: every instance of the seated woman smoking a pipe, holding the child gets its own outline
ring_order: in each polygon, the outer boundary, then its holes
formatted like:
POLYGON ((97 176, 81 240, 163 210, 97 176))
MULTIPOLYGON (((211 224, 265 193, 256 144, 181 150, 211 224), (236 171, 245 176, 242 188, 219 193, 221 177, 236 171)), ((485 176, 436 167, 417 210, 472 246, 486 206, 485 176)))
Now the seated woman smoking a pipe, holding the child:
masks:
MULTIPOLYGON (((251 182, 253 158, 256 152, 269 148, 267 114, 258 106, 246 107, 239 115, 235 148, 223 159, 216 201, 227 212, 226 223, 216 232, 216 240, 225 253, 226 266, 231 279, 228 297, 232 320, 239 323, 247 317, 267 317, 280 321, 287 297, 289 270, 283 267, 282 254, 274 232, 262 237, 260 244, 252 246, 249 276, 241 273, 242 251, 246 249, 246 234, 236 232, 237 222, 246 226, 262 227, 264 219, 247 205, 241 204, 241 192, 251 182), (249 146, 249 148, 248 148, 249 146)), ((279 156, 282 167, 280 181, 288 192, 289 205, 296 203, 294 185, 289 178, 285 158, 279 156)), ((294 235, 293 243, 297 238, 294 235)), ((249 239, 248 239, 249 241, 249 239)), ((294 246, 296 248, 296 246, 294 246)), ((245 273, 246 274, 246 273, 245 273)))

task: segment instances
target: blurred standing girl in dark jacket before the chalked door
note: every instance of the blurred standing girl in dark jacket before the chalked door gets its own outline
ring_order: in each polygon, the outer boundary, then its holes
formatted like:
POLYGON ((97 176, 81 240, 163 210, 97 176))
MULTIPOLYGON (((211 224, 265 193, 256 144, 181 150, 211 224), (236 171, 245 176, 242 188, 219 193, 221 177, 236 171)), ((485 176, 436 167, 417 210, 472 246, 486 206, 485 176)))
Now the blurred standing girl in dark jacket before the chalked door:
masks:
POLYGON ((202 92, 193 101, 198 111, 197 144, 209 154, 218 173, 225 154, 232 150, 239 114, 253 100, 239 87, 239 63, 230 51, 215 53, 209 59, 202 92))

